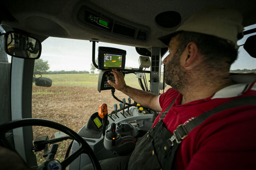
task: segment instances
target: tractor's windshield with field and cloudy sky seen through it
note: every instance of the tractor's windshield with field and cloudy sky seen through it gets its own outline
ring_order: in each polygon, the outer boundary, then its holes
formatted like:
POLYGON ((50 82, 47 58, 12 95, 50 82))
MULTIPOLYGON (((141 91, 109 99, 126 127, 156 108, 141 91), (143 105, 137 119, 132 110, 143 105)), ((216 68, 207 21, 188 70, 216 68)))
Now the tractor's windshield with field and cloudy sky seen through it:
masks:
MULTIPOLYGON (((135 47, 110 43, 96 43, 95 56, 98 56, 98 46, 114 47, 126 50, 125 68, 138 68, 139 54, 135 47)), ((98 63, 96 61, 96 63, 98 63)), ((113 105, 119 102, 111 96, 110 90, 100 93, 97 90, 99 71, 92 64, 92 42, 50 37, 42 42, 41 57, 35 60, 35 77, 46 77, 52 80, 51 87, 39 87, 33 83, 32 118, 47 119, 63 124, 78 132, 90 118, 98 112, 98 107, 106 103, 109 112, 113 105), (41 75, 40 75, 41 74, 41 75)), ((146 74, 145 82, 150 80, 146 74)), ((141 89, 135 74, 125 75, 126 84, 141 89)), ((120 91, 115 96, 127 100, 128 96, 120 91)), ((134 101, 132 101, 133 103, 134 101)), ((34 139, 48 135, 55 138, 54 129, 33 127, 34 139)), ((65 157, 70 140, 63 141, 57 154, 61 161, 65 157)), ((38 163, 44 162, 43 151, 36 152, 38 163)))

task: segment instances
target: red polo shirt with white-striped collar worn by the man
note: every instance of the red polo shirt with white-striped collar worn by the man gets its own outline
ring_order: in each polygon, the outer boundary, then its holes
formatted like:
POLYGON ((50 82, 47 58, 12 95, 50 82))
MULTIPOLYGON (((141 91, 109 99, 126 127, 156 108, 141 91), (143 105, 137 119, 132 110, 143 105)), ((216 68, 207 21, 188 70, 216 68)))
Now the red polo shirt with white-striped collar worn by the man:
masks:
MULTIPOLYGON (((214 95, 181 105, 182 95, 168 89, 159 96, 162 111, 177 97, 163 123, 173 133, 180 124, 223 103, 245 96, 256 96, 256 74, 236 74, 234 84, 214 95)), ((256 101, 255 101, 256 102, 256 101)), ((153 126, 159 120, 156 118, 153 126)), ((191 130, 177 151, 177 170, 255 169, 256 106, 241 106, 219 112, 191 130)))

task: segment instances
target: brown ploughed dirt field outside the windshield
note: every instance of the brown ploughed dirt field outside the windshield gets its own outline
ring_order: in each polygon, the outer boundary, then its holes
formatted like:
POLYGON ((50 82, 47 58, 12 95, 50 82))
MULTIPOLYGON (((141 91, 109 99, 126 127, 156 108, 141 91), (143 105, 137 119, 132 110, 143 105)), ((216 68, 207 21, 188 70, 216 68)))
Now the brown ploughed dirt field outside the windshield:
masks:
MULTIPOLYGON (((120 91, 116 91, 115 95, 120 100, 128 98, 120 91)), ((114 110, 115 103, 119 106, 119 102, 111 96, 111 90, 99 93, 95 87, 33 86, 32 118, 51 120, 78 132, 87 123, 90 116, 98 112, 98 107, 103 103, 108 105, 108 113, 114 110)), ((49 139, 55 138, 54 133, 57 131, 51 128, 33 127, 34 139, 44 135, 48 135, 49 139)), ((64 159, 70 142, 71 140, 66 140, 58 143, 56 159, 59 161, 64 159)), ((36 152, 36 157, 38 164, 46 160, 43 158, 43 151, 36 152)))

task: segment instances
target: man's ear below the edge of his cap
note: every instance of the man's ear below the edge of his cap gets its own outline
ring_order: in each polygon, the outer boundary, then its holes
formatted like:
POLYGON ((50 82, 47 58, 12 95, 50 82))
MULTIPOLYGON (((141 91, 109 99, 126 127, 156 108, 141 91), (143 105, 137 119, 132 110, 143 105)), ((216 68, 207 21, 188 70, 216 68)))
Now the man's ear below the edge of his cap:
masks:
POLYGON ((195 61, 198 55, 198 47, 196 43, 189 42, 181 56, 181 63, 184 67, 189 67, 195 61))

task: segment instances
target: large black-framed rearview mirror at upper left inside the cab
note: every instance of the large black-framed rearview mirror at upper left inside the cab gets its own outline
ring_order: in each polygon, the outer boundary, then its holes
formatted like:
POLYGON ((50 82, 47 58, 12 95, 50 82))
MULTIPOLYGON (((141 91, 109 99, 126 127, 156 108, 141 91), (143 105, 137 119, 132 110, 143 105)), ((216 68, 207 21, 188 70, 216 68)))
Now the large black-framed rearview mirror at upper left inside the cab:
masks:
POLYGON ((4 35, 5 52, 8 55, 25 59, 37 59, 41 55, 41 42, 31 36, 14 31, 4 35))

